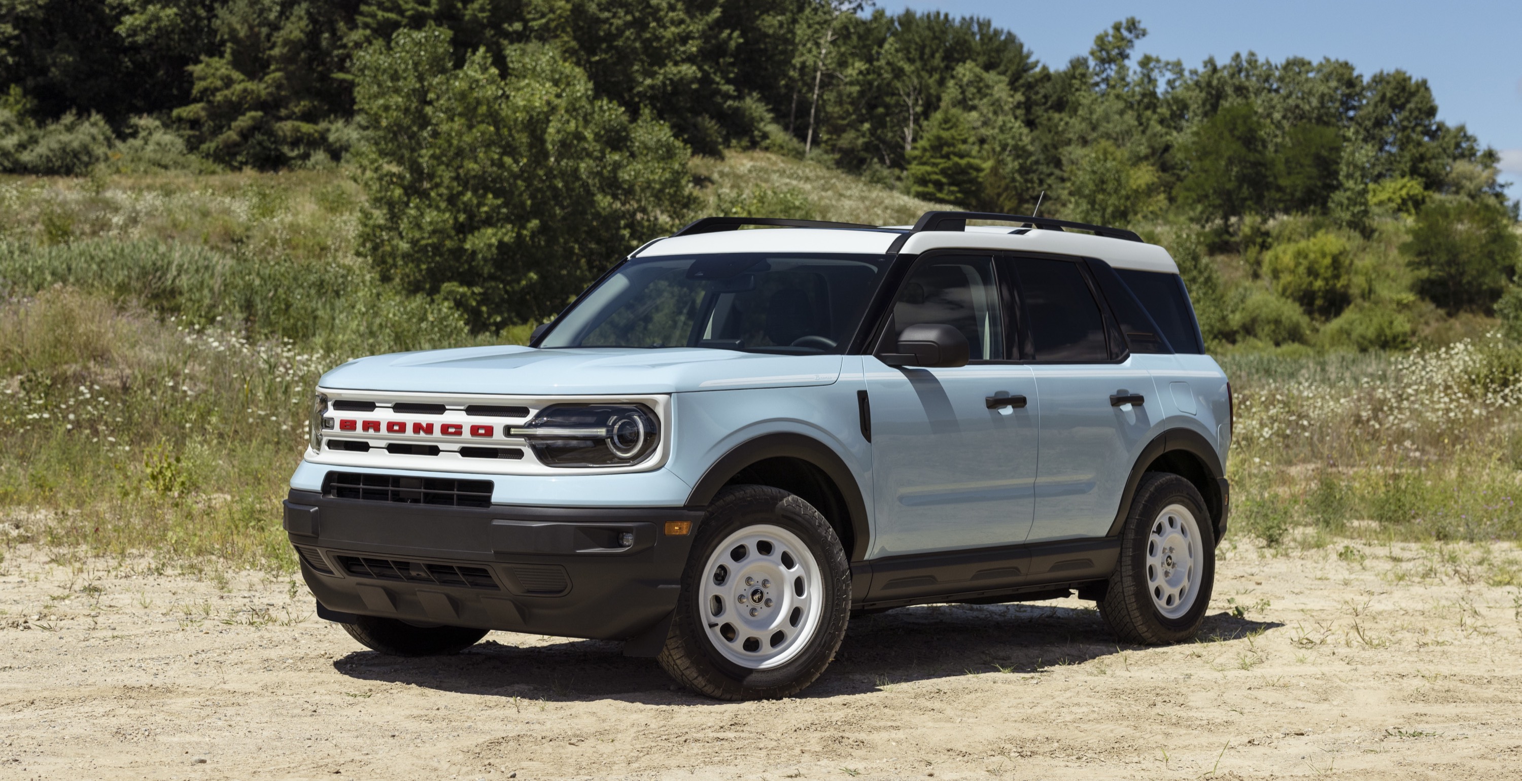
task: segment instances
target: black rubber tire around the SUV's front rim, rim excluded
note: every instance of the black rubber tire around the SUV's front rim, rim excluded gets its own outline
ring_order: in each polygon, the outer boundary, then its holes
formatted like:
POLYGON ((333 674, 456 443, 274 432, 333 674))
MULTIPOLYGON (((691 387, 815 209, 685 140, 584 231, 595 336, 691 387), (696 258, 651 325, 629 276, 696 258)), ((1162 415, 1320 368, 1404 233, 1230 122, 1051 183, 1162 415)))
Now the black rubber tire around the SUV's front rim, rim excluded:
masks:
MULTIPOLYGON (((735 579, 738 580, 738 574, 735 579)), ((787 586, 781 586, 787 588, 787 586)), ((770 606, 770 603, 767 603, 770 606)), ((749 607, 744 607, 749 609, 749 607)), ((721 490, 699 525, 693 553, 682 574, 682 594, 659 662, 679 684, 721 700, 788 697, 808 687, 834 659, 851 615, 851 565, 840 537, 819 510, 804 499, 767 486, 721 490), (772 525, 796 536, 819 569, 819 614, 813 635, 781 664, 749 668, 724 658, 715 647, 703 600, 706 563, 717 547, 737 531, 772 525)), ((715 624, 717 626, 717 624, 715 624)), ((728 624, 726 624, 728 626, 728 624)), ((750 650, 750 649, 747 649, 750 650)))

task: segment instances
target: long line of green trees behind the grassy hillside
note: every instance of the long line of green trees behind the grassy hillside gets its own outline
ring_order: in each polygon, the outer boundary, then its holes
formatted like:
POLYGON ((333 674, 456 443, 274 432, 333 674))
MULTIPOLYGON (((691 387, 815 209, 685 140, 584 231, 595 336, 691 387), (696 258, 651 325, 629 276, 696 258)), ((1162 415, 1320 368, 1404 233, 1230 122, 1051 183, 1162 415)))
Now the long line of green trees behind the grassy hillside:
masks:
POLYGON ((350 160, 371 260, 476 327, 554 312, 688 215, 688 155, 735 146, 960 207, 1187 224, 1263 282, 1192 273, 1236 291, 1202 314, 1221 338, 1303 341, 1399 306, 1356 279, 1382 221, 1405 221, 1408 292, 1449 312, 1493 311, 1516 274, 1498 155, 1437 119, 1425 79, 1253 53, 1186 67, 1137 56, 1135 18, 1046 64, 988 20, 858 0, 8 6, 0 169, 350 160))

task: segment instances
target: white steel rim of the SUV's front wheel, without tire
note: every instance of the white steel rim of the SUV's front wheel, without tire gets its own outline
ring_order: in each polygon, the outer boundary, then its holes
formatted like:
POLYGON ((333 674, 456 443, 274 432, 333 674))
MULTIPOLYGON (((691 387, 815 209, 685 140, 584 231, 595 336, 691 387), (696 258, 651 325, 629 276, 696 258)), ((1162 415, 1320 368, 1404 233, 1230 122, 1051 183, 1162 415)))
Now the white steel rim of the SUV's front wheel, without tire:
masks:
POLYGON ((697 615, 708 641, 740 667, 781 667, 819 629, 819 562, 802 539, 782 527, 737 530, 714 547, 699 577, 697 615))

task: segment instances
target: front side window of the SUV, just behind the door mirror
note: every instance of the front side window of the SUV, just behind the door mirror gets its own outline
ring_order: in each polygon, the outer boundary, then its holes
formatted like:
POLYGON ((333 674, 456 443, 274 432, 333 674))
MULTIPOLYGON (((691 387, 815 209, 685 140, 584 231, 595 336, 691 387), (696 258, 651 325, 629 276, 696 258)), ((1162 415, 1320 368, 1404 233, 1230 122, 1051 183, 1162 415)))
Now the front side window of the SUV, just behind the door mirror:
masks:
POLYGON ((925 260, 898 291, 893 327, 939 323, 966 336, 973 361, 1005 356, 1005 320, 994 280, 994 259, 936 256, 925 260))

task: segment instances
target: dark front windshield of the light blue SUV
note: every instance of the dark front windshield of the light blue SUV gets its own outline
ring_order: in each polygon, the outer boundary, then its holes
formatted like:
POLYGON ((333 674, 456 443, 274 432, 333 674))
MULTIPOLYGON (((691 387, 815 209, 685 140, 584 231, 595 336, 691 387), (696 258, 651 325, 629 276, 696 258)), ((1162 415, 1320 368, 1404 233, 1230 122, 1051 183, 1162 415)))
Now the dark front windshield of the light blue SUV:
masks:
POLYGON ((864 254, 636 257, 539 346, 840 353, 881 271, 883 257, 864 254))

